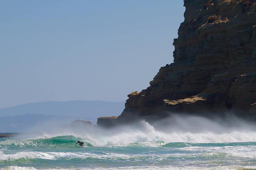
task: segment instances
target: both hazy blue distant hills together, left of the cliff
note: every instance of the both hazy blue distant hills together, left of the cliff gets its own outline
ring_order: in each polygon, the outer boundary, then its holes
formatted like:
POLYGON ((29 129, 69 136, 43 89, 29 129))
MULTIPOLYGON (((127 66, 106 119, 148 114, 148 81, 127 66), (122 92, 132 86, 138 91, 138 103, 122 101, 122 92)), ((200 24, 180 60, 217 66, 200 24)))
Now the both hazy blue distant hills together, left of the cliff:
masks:
POLYGON ((0 108, 0 132, 22 132, 37 124, 59 122, 70 124, 83 119, 96 124, 102 116, 118 116, 124 110, 123 102, 108 101, 47 101, 0 108))

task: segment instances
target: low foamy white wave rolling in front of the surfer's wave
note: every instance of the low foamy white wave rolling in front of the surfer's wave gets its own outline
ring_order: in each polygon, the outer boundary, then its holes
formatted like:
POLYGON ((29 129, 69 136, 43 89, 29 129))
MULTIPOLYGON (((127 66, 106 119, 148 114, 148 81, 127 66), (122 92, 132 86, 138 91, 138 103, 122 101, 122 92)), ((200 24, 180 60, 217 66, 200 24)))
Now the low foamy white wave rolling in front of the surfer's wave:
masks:
POLYGON ((83 160, 128 160, 128 161, 144 161, 144 160, 190 160, 190 159, 222 159, 222 158, 256 158, 256 146, 244 147, 184 147, 177 148, 173 153, 146 152, 140 154, 115 153, 111 151, 100 152, 40 152, 27 151, 17 152, 14 154, 4 154, 0 151, 1 161, 13 161, 21 159, 83 159, 83 160), (179 151, 179 152, 177 152, 179 151), (180 152, 183 151, 183 152, 180 152), (185 151, 185 152, 184 152, 185 151), (195 153, 196 152, 196 153, 195 153))

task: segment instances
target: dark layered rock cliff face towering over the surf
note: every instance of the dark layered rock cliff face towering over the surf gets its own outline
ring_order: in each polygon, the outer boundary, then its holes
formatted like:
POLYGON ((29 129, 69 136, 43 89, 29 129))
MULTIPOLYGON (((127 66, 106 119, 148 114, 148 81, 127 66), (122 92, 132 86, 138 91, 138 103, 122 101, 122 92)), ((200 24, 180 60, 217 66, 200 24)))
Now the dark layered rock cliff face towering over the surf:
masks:
POLYGON ((185 0, 184 6, 174 63, 161 67, 150 87, 128 95, 116 122, 173 112, 256 117, 256 0, 185 0))

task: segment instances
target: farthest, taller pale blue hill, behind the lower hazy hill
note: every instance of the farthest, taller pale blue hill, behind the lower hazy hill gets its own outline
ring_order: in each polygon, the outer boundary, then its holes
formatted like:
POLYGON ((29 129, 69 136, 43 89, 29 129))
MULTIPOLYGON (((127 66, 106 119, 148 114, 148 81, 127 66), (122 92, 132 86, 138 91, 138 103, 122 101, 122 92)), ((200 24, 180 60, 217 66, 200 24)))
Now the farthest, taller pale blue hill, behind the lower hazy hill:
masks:
MULTIPOLYGON (((0 117, 22 114, 45 114, 53 116, 90 117, 120 115, 124 109, 123 102, 108 101, 47 101, 22 104, 0 109, 0 117)), ((2 119, 2 118, 1 118, 2 119)))

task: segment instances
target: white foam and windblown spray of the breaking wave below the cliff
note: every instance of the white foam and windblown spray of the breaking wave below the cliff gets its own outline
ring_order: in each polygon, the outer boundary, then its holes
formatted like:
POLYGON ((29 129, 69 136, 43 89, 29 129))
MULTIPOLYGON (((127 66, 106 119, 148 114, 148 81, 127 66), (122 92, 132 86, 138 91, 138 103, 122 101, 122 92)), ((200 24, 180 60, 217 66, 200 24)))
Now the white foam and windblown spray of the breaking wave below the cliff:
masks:
POLYGON ((93 146, 127 145, 135 142, 163 141, 189 143, 225 143, 256 141, 255 124, 236 117, 228 121, 210 120, 198 116, 179 116, 157 121, 153 124, 141 120, 135 124, 111 129, 98 126, 63 126, 58 123, 42 125, 29 131, 30 137, 74 136, 93 146))

